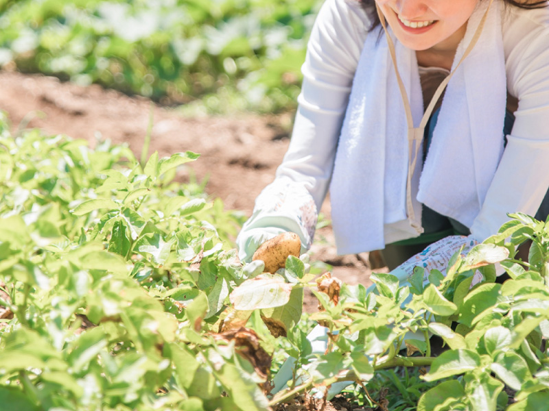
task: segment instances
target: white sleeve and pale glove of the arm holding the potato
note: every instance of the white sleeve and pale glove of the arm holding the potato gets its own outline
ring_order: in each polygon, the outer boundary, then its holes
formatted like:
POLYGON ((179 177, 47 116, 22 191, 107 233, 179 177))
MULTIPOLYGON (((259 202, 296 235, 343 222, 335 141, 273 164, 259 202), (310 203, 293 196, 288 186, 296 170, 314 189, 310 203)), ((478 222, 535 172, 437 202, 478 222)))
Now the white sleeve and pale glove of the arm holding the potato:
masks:
POLYGON ((310 247, 368 27, 358 1, 327 0, 320 8, 301 68, 292 140, 274 182, 257 197, 237 238, 241 259, 250 258, 250 247, 255 247, 251 238, 261 228, 271 236, 296 232, 303 247, 310 247))

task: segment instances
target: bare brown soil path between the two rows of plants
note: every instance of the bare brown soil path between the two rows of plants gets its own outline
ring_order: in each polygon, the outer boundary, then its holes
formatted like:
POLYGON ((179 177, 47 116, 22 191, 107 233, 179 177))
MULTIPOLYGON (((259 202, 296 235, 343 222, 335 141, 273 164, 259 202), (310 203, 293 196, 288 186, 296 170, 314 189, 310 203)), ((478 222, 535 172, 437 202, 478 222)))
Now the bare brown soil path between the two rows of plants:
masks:
MULTIPOLYGON (((143 97, 8 71, 0 71, 0 90, 0 109, 8 112, 14 129, 40 127, 51 134, 84 138, 92 145, 97 138, 126 142, 138 157, 152 110, 150 153, 200 153, 189 166, 189 175, 194 173, 198 181, 207 179, 206 191, 212 198, 220 197, 227 209, 242 210, 247 216, 255 197, 272 182, 290 142, 292 114, 187 118, 143 97)), ((329 211, 327 200, 321 210, 327 219, 329 211)), ((312 260, 333 266, 332 275, 347 284, 370 284, 368 253, 336 256, 329 225, 317 231, 311 254, 312 260)), ((312 300, 309 295, 307 311, 316 306, 312 300)))

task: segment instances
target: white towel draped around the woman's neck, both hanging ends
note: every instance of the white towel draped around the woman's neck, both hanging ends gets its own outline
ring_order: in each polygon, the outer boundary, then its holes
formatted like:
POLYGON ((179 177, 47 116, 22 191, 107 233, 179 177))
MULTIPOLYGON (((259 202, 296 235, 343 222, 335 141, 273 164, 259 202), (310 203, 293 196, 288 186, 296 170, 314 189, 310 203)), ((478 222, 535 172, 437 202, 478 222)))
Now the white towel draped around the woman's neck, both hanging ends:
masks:
MULTIPOLYGON (((477 44, 447 86, 423 171, 421 159, 417 162, 412 179, 417 216, 424 203, 470 226, 497 169, 506 105, 500 3, 493 2, 477 44)), ((479 2, 469 18, 454 65, 487 5, 479 2)), ((406 216, 408 125, 382 30, 379 27, 366 36, 330 185, 331 216, 341 254, 382 249, 390 242, 417 236, 406 216)), ((423 98, 415 52, 401 45, 392 32, 390 36, 417 127, 423 98)))

